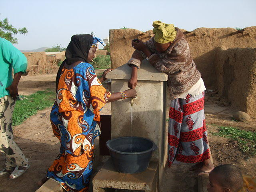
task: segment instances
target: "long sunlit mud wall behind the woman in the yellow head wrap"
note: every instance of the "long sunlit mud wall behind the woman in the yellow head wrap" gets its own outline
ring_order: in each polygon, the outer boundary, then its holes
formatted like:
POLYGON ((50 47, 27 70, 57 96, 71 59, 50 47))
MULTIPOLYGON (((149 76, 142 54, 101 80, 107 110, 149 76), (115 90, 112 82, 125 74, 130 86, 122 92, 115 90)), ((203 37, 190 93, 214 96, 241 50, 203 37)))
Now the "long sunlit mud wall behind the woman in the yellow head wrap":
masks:
MULTIPOLYGON (((234 28, 198 28, 192 32, 182 31, 207 88, 217 87, 214 66, 217 47, 256 48, 256 27, 245 28, 241 33, 234 28)), ((130 59, 134 51, 131 46, 132 39, 139 38, 145 42, 153 36, 152 30, 141 32, 135 29, 114 29, 109 33, 112 68, 117 68, 130 59)))

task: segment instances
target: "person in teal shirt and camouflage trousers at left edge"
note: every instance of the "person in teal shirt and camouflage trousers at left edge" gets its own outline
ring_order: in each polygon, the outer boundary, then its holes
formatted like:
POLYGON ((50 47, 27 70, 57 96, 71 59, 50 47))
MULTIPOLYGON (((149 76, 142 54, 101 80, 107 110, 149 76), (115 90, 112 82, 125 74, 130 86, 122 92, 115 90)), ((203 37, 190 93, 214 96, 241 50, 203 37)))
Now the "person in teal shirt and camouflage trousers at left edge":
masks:
POLYGON ((12 134, 12 113, 18 96, 18 83, 27 65, 24 54, 11 42, 0 38, 0 152, 4 153, 6 160, 0 177, 10 174, 11 179, 17 178, 29 167, 28 159, 14 142, 12 134))

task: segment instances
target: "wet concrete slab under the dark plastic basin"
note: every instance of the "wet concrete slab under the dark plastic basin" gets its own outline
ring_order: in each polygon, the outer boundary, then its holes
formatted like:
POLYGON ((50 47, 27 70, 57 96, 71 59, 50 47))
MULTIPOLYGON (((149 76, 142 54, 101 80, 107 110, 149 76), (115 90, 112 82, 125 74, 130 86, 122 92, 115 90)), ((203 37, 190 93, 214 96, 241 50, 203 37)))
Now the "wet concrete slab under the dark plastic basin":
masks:
POLYGON ((108 159, 92 180, 93 192, 159 192, 158 164, 152 159, 144 172, 125 174, 116 172, 108 159))

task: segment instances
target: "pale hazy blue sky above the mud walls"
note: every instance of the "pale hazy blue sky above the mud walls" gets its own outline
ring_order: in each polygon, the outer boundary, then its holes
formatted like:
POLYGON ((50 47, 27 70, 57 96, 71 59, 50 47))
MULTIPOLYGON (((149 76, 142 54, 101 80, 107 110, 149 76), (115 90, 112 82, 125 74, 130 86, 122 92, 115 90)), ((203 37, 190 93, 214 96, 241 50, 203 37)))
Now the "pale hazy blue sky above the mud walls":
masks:
POLYGON ((256 0, 0 0, 0 20, 8 18, 27 35, 16 35, 22 50, 66 47, 74 34, 92 31, 106 38, 109 29, 152 29, 160 20, 179 28, 256 26, 256 0))

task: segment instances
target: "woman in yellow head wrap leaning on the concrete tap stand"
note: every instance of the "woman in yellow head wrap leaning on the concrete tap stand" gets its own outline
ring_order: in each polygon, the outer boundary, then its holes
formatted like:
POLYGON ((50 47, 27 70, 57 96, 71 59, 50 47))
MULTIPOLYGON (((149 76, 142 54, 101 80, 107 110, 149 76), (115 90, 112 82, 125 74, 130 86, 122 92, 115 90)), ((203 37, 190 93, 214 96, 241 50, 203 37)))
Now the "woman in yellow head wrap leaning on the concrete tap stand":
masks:
POLYGON ((204 120, 204 81, 190 56, 182 31, 173 24, 153 22, 154 36, 147 42, 132 41, 136 50, 128 65, 132 75, 129 88, 137 85, 137 70, 148 58, 157 70, 168 74, 170 112, 168 127, 168 164, 174 160, 196 163, 195 176, 209 173, 214 165, 210 159, 204 120))

